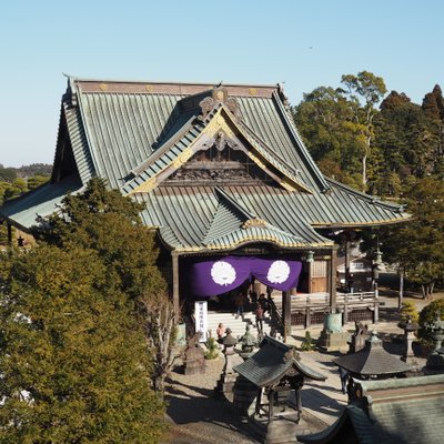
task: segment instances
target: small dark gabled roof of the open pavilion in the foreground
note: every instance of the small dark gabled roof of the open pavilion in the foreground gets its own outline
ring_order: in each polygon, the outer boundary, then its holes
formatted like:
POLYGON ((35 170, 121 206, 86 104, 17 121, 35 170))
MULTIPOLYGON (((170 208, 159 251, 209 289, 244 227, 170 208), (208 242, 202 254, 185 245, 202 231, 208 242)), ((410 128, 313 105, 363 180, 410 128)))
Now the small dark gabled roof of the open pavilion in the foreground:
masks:
POLYGON ((265 336, 256 353, 233 370, 259 387, 265 387, 281 381, 292 367, 310 380, 326 380, 326 376, 303 364, 293 347, 270 336, 265 336))

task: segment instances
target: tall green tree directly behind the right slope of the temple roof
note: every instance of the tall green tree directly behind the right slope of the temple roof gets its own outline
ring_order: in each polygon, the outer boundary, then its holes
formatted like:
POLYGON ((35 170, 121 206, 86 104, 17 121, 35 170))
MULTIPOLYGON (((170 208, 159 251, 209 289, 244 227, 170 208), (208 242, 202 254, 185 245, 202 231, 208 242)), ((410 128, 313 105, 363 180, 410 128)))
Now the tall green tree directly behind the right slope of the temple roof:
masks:
POLYGON ((385 84, 369 71, 343 75, 342 84, 304 94, 294 119, 322 171, 365 190, 369 178, 377 175, 383 164, 374 144, 374 118, 385 84))

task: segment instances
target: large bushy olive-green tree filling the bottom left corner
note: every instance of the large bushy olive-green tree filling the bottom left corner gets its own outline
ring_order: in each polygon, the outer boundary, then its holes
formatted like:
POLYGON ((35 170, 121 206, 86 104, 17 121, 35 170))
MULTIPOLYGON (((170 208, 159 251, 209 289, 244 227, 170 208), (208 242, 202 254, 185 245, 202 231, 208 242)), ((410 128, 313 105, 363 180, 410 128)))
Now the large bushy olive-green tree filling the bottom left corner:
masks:
POLYGON ((159 443, 145 339, 98 253, 43 245, 2 260, 0 443, 159 443))

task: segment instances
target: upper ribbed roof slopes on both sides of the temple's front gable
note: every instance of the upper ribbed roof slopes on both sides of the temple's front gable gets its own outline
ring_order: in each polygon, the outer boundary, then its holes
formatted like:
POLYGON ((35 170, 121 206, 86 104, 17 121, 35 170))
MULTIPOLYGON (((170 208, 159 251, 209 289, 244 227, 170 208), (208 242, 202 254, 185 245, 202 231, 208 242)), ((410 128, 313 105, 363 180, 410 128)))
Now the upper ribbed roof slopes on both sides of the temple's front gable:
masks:
MULTIPOLYGON (((69 93, 63 98, 63 112, 67 112, 69 104, 75 103, 95 173, 107 178, 112 188, 123 186, 131 172, 159 149, 159 141, 164 140, 165 134, 173 133, 172 130, 179 130, 196 112, 196 107, 189 111, 180 107, 180 101, 188 94, 175 92, 185 91, 185 88, 172 88, 170 84, 161 93, 157 92, 155 85, 153 89, 149 87, 143 83, 71 79, 69 93)), ((212 88, 192 87, 200 93, 212 88)), ((284 159, 289 172, 297 171, 301 182, 306 186, 326 188, 317 167, 311 160, 303 159, 305 149, 299 147, 297 135, 279 98, 278 87, 269 87, 269 90, 265 97, 259 93, 258 97, 245 98, 245 93, 236 95, 233 88, 244 128, 251 130, 249 137, 259 143, 262 141, 266 147, 264 155, 271 160, 284 159), (294 150, 296 145, 300 153, 294 150)), ((71 128, 71 132, 75 131, 79 129, 71 128)), ((175 147, 176 150, 181 148, 175 147)), ((79 158, 77 161, 80 163, 82 160, 79 158)))

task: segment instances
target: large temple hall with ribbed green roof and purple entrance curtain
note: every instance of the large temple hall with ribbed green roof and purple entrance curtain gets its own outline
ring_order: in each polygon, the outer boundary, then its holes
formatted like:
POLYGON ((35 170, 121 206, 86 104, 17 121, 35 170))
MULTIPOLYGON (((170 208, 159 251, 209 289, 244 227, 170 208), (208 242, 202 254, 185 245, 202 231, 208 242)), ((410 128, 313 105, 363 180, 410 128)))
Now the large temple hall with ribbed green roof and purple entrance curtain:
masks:
POLYGON ((92 176, 144 204, 174 304, 255 279, 335 307, 333 233, 392 224, 398 205, 324 176, 280 85, 68 79, 52 176, 0 218, 29 232, 92 176))

